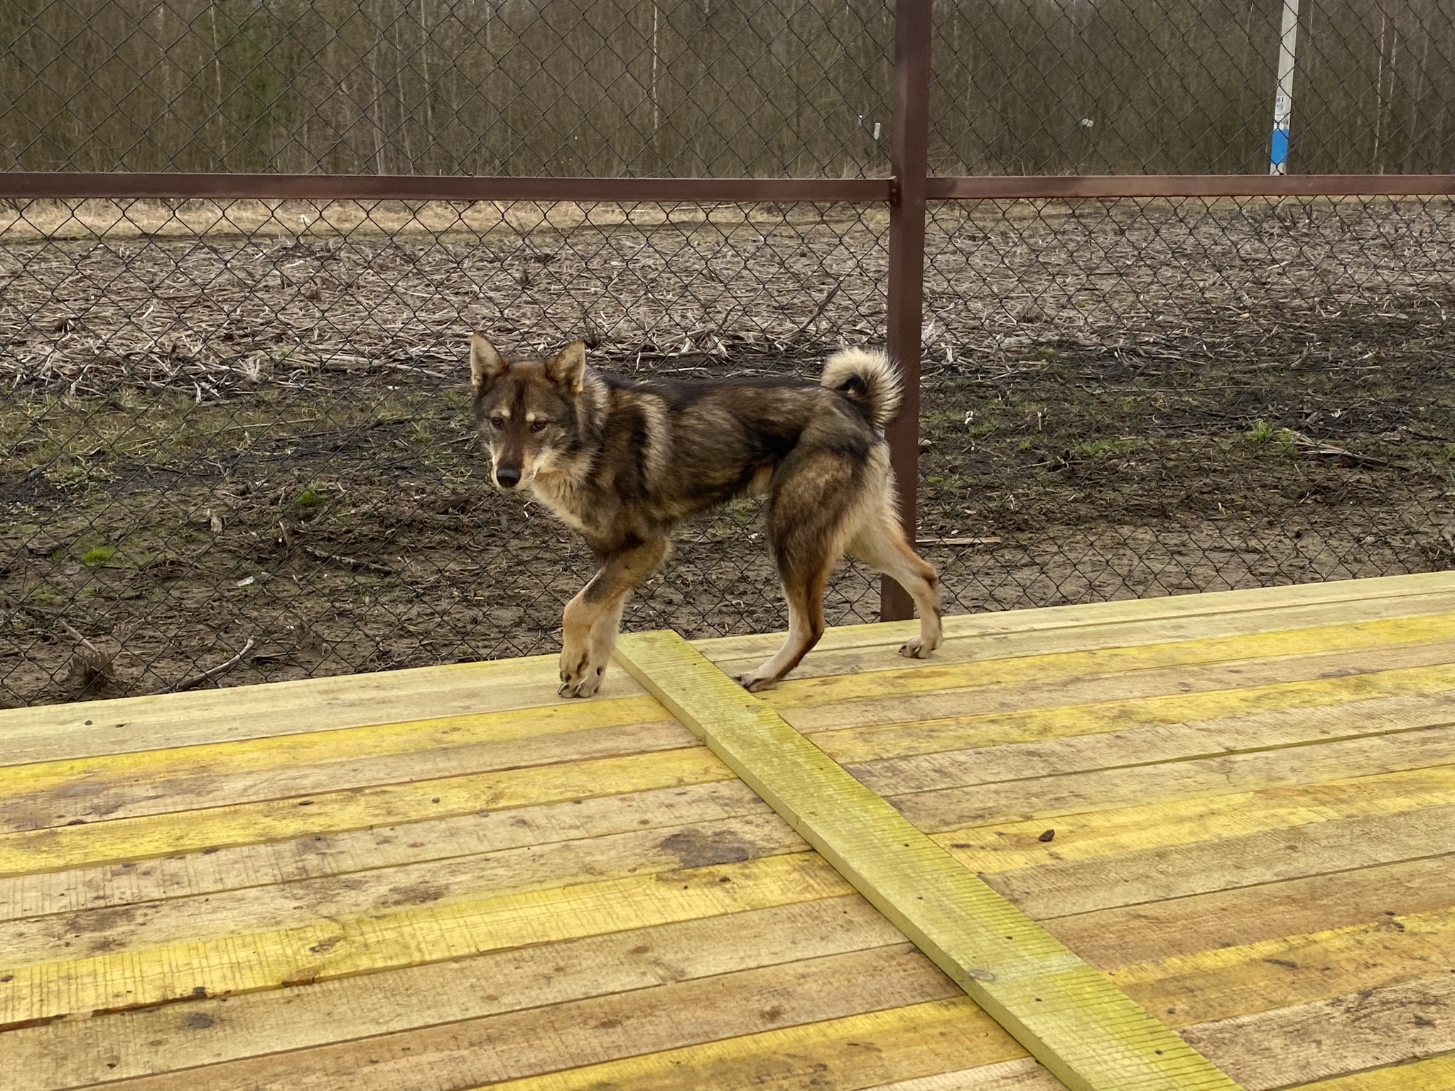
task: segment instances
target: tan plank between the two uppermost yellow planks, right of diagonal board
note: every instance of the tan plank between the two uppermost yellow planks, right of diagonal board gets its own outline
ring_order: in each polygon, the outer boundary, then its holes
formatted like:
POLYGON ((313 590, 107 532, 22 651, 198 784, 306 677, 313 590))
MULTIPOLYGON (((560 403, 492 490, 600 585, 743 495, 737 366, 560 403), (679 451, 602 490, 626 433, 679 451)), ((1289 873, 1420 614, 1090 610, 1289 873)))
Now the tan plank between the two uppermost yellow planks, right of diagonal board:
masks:
MULTIPOLYGON (((1030 678, 1004 685, 966 687, 934 692, 845 700, 780 710, 784 720, 805 735, 848 727, 901 726, 912 735, 915 724, 988 713, 1020 713, 1097 701, 1128 701, 1144 697, 1237 690, 1280 682, 1312 681, 1336 675, 1372 675, 1417 666, 1448 666, 1455 659, 1455 640, 1429 644, 1395 644, 1308 656, 1235 659, 1225 663, 1165 666, 1131 674, 1094 674, 1081 678, 1030 678)), ((936 729, 938 724, 930 724, 936 729)))

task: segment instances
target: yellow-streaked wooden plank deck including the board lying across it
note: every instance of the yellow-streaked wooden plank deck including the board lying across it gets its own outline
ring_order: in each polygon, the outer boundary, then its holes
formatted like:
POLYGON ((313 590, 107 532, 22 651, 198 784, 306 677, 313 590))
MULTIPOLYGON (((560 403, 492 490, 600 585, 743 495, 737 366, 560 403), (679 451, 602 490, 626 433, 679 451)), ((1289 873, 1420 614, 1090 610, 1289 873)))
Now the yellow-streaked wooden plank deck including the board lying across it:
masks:
POLYGON ((906 631, 0 711, 0 1090, 1455 1088, 1455 576, 906 631))

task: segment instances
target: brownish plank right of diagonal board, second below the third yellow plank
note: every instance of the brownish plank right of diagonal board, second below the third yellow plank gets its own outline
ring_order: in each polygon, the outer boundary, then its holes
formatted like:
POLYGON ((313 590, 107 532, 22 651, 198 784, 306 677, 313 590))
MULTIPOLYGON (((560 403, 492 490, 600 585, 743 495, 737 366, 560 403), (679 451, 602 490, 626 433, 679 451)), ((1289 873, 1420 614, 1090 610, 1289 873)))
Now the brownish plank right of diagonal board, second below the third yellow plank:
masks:
MULTIPOLYGON (((1449 844, 1449 842, 1446 842, 1449 844)), ((1100 969, 1455 906, 1449 855, 1042 921, 1100 969)))

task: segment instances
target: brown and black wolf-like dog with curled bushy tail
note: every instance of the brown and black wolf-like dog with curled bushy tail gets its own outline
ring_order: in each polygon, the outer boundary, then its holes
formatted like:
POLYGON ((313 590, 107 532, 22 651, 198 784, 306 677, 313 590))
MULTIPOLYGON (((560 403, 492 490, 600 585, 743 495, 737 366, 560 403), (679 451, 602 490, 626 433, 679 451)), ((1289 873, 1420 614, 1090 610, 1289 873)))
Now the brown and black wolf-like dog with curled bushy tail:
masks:
POLYGON ((744 687, 773 688, 818 643, 824 586, 845 551, 914 598, 920 636, 899 652, 920 659, 938 646, 937 576, 895 506, 883 429, 902 396, 883 353, 844 349, 818 383, 629 381, 588 367, 581 340, 508 362, 476 333, 470 383, 495 484, 530 489, 601 564, 562 617, 560 694, 597 692, 627 596, 666 560, 674 528, 742 493, 768 497, 789 602, 787 639, 738 676, 744 687))

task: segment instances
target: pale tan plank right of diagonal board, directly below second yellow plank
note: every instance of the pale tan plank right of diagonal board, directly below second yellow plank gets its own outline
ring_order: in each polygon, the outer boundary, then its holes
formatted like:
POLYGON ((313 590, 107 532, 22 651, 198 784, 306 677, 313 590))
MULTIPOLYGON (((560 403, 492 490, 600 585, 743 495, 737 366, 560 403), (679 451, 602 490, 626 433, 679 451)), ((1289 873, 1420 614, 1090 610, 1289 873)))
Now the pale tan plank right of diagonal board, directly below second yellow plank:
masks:
MULTIPOLYGON (((1451 674, 1455 681, 1455 669, 1451 674)), ((997 784, 1213 755, 1253 754, 1314 742, 1342 742, 1451 723, 1455 723, 1455 690, 1410 697, 1376 697, 1343 704, 1273 708, 1244 716, 1157 723, 1145 727, 1126 726, 1119 730, 1058 739, 841 764, 874 791, 883 796, 901 796, 969 784, 997 784)), ((813 742, 818 743, 821 739, 813 742)), ((832 754, 828 748, 825 752, 832 754)), ((837 759, 837 755, 834 756, 837 759)))

